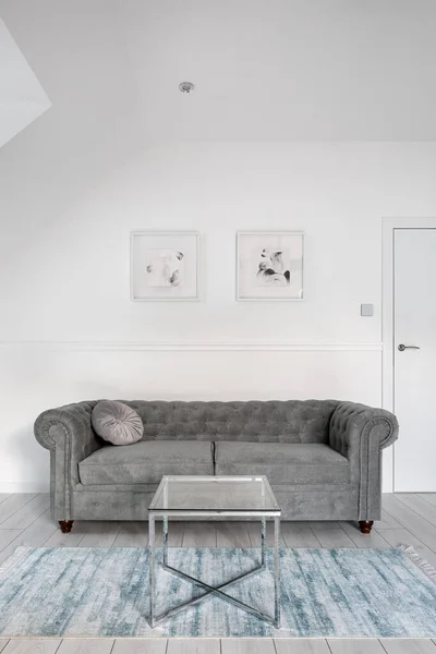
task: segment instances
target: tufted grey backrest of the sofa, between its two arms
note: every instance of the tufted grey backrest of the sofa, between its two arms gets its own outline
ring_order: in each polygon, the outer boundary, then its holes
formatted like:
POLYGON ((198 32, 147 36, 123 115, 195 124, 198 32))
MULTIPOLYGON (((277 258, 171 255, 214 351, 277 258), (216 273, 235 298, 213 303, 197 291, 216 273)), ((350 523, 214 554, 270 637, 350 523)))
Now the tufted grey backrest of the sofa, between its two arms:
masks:
POLYGON ((327 443, 338 401, 125 403, 141 415, 144 440, 327 443))

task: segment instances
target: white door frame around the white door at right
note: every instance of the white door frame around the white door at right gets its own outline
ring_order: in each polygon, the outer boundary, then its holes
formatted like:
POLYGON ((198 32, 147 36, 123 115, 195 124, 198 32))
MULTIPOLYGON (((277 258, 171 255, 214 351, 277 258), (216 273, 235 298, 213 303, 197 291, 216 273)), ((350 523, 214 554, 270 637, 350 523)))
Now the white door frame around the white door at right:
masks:
MULTIPOLYGON (((396 229, 436 229, 436 217, 386 217, 382 221, 382 404, 395 412, 393 396, 393 237, 396 229)), ((384 452, 385 493, 395 491, 396 445, 384 452)))

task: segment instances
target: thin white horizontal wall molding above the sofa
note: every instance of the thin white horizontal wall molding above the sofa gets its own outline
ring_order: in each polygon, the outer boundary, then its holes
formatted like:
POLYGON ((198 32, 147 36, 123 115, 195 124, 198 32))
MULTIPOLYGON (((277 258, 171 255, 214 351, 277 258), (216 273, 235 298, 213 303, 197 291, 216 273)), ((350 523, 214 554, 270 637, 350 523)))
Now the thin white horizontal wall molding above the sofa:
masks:
POLYGON ((61 352, 382 352, 382 342, 298 341, 0 341, 1 349, 61 352))

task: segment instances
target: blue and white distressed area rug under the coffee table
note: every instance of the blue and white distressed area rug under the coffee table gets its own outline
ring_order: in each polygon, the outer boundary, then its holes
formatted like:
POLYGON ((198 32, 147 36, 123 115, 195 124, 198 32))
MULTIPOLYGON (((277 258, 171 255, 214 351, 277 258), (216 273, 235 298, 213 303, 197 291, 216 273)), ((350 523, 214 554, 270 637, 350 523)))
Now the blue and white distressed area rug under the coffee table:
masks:
MULTIPOLYGON (((252 569, 259 552, 187 547, 169 556, 170 565, 218 585, 252 569)), ((147 548, 20 547, 0 569, 0 635, 436 635, 436 572, 412 548, 281 550, 280 629, 210 595, 150 629, 148 560, 147 548)), ((268 550, 268 569, 227 592, 271 613, 272 562, 268 550)), ((158 611, 203 592, 157 573, 158 611)))

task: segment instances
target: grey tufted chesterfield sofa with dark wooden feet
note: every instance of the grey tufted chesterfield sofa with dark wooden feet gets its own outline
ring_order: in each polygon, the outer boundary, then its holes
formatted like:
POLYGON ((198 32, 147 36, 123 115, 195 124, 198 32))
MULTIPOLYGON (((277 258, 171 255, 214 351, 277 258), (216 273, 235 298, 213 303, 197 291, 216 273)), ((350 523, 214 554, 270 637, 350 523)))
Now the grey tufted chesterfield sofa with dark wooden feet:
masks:
POLYGON ((50 450, 51 512, 63 531, 80 520, 144 520, 165 474, 265 474, 283 520, 380 517, 382 450, 398 436, 383 409, 336 400, 128 401, 140 443, 105 444, 97 401, 45 411, 35 436, 50 450))

